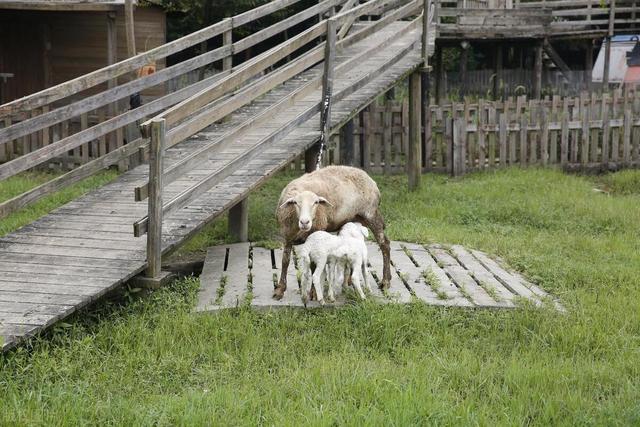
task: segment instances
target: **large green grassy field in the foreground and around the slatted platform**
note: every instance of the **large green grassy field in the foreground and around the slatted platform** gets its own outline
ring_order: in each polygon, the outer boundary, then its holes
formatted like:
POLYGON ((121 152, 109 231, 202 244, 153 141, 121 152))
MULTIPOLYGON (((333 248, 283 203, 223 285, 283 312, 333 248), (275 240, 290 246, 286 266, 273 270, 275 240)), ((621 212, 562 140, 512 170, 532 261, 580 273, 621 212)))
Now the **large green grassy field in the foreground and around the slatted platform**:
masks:
MULTIPOLYGON (((290 178, 252 196, 253 240, 276 238, 290 178)), ((0 424, 640 424, 639 172, 427 175, 413 194, 401 177, 378 182, 391 238, 499 255, 568 313, 362 303, 194 315, 198 281, 186 279, 0 356, 0 424)))

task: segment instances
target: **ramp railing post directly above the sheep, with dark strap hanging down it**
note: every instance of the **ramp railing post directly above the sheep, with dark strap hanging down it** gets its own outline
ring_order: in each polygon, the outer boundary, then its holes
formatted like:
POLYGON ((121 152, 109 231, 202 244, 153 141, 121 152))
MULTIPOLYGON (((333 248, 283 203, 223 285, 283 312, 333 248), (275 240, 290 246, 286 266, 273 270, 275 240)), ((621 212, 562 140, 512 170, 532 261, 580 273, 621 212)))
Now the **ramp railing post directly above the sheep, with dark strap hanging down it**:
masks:
MULTIPOLYGON (((322 156, 329 142, 329 136, 331 135, 331 94, 333 91, 333 73, 335 68, 337 23, 338 21, 335 19, 327 19, 327 39, 324 45, 324 72, 322 74, 322 105, 320 106, 320 141, 314 145, 314 147, 307 150, 309 157, 313 154, 312 150, 317 152, 315 162, 312 161, 311 164, 307 164, 307 155, 305 154, 306 172, 320 168, 322 156)), ((309 160, 312 159, 309 158, 309 160)))

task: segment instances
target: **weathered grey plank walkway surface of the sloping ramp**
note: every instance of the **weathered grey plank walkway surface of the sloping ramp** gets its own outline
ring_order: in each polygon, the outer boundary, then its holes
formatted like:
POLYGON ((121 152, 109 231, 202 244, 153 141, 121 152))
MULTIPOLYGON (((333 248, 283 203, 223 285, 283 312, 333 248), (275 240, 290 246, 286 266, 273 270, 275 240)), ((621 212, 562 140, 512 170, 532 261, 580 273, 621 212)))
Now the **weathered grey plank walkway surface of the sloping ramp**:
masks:
MULTIPOLYGON (((377 75, 364 87, 333 105, 331 126, 338 128, 376 96, 413 72, 421 63, 420 31, 398 37, 406 22, 395 22, 349 46, 336 64, 389 43, 350 67, 334 82, 339 92, 363 76, 377 75)), ((275 105, 305 82, 322 74, 322 64, 286 81, 223 123, 213 125, 166 152, 169 168, 190 153, 217 143, 223 135, 275 105)), ((320 89, 292 103, 267 124, 251 128, 234 144, 217 151, 189 174, 167 185, 166 198, 190 188, 203 177, 291 122, 320 99, 320 89)), ((163 253, 167 254, 226 212, 248 193, 318 141, 319 117, 312 117, 270 145, 243 168, 225 178, 195 203, 165 217, 163 253)), ((148 181, 148 166, 139 166, 103 188, 62 206, 45 217, 0 238, 0 336, 2 348, 15 345, 55 321, 84 307, 146 268, 146 237, 134 238, 132 224, 147 214, 147 202, 134 201, 134 188, 148 181)))

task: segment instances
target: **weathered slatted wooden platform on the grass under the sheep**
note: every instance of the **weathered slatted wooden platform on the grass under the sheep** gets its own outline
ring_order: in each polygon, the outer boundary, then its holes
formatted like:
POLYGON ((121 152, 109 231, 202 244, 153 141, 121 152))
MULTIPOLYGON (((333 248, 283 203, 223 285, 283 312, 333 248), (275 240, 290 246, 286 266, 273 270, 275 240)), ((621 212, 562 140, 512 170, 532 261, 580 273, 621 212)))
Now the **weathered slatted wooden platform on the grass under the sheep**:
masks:
MULTIPOLYGON (((369 277, 372 298, 382 303, 409 303, 458 307, 515 308, 522 303, 562 306, 538 286, 508 269, 487 254, 462 246, 422 246, 391 242, 392 280, 382 292, 382 254, 369 242, 369 277)), ((255 308, 303 307, 295 268, 295 249, 289 266, 288 288, 280 301, 272 298, 278 282, 281 249, 265 249, 249 243, 209 248, 200 277, 201 289, 196 311, 216 311, 251 305, 255 308)), ((354 292, 337 295, 340 306, 356 301, 354 292)), ((318 307, 316 301, 308 307, 318 307)))

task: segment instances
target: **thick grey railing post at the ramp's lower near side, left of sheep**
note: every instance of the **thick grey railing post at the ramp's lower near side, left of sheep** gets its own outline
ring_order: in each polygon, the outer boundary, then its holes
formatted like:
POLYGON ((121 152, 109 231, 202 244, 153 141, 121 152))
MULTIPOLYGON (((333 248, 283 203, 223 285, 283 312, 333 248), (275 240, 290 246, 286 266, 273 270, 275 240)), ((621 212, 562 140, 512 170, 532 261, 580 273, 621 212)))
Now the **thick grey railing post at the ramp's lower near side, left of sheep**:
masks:
POLYGON ((165 146, 165 119, 149 125, 149 228, 147 232, 148 278, 160 277, 162 267, 162 174, 165 146))

